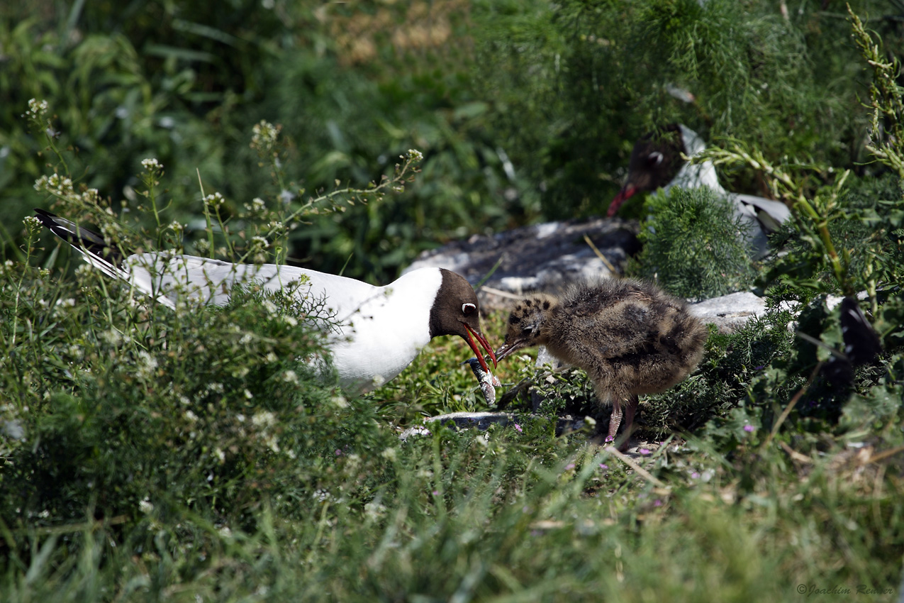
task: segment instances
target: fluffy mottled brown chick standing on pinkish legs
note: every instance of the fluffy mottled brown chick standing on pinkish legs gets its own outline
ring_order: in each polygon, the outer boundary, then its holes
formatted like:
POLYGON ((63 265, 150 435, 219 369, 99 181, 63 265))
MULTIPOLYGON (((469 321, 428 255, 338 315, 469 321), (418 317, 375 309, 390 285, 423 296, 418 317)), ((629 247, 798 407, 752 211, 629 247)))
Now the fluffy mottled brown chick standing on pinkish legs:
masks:
POLYGON ((600 405, 613 407, 607 442, 615 440, 624 414, 619 449, 625 450, 638 394, 682 382, 700 362, 706 338, 706 326, 682 300, 640 280, 606 279, 518 302, 496 357, 545 345, 560 361, 587 371, 600 405))

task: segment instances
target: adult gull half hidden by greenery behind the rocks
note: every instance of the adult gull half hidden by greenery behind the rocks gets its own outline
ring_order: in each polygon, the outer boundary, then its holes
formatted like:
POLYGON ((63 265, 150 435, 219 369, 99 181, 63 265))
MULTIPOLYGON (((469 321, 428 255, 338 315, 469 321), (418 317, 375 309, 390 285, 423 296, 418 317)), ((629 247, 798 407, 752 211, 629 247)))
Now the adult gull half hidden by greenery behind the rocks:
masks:
POLYGON ((791 217, 785 203, 751 194, 729 193, 719 184, 711 161, 691 164, 682 157, 700 155, 706 145, 703 139, 683 124, 672 124, 660 132, 647 134, 636 142, 627 168, 627 182, 606 212, 612 217, 627 198, 635 193, 652 192, 673 186, 694 188, 709 186, 733 204, 735 214, 748 225, 747 236, 754 255, 762 257, 768 250, 767 235, 777 231, 791 217))

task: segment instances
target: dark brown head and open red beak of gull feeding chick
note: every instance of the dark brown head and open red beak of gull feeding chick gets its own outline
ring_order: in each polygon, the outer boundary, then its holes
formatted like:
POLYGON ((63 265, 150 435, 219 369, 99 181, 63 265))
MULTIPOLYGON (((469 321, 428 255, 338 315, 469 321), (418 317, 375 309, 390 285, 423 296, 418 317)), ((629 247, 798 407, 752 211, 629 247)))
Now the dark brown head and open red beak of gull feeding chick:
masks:
POLYGON ((430 308, 430 338, 438 335, 458 335, 474 350, 485 372, 490 372, 484 360, 484 353, 477 344, 481 344, 486 353, 490 354, 494 365, 496 356, 480 330, 480 304, 474 288, 455 272, 447 269, 439 269, 439 272, 442 274, 442 284, 439 286, 433 307, 430 308))

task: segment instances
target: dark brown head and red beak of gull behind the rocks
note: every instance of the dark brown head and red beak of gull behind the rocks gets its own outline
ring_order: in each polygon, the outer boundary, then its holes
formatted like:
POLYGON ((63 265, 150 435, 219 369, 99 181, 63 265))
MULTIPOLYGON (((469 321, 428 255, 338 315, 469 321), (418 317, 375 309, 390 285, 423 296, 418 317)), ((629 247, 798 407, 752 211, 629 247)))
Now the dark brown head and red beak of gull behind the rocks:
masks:
POLYGON ((627 182, 606 212, 611 218, 626 199, 635 193, 650 193, 672 182, 683 165, 684 148, 681 127, 670 124, 646 134, 636 142, 627 167, 627 182))

